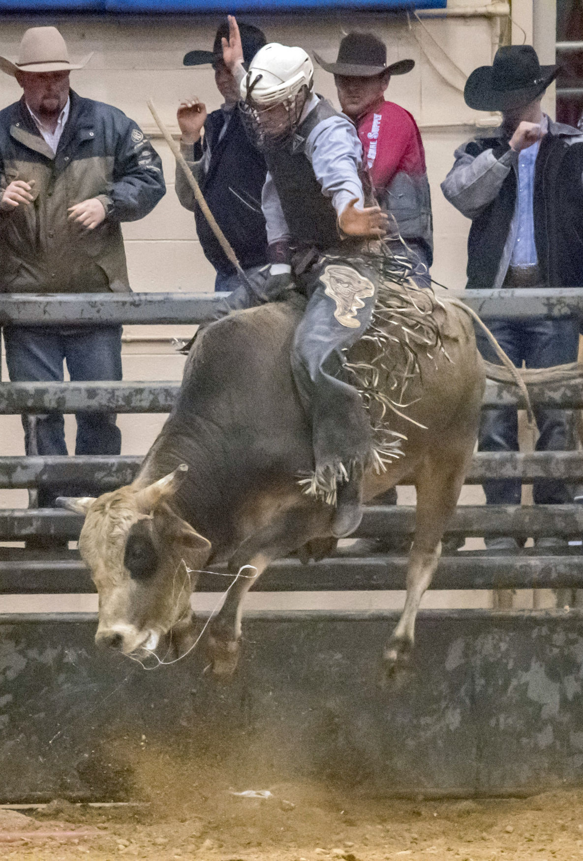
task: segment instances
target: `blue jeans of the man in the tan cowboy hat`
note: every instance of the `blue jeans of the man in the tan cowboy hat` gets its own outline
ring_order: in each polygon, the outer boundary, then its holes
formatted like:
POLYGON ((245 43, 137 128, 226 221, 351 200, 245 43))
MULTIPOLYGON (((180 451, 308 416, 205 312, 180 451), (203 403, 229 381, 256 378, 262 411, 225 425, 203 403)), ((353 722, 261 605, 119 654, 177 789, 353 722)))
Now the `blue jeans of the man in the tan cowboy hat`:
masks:
MULTIPOLYGON (((62 382, 63 362, 71 381, 121 380, 121 326, 6 326, 6 362, 12 382, 62 382)), ((64 418, 59 412, 23 415, 27 455, 66 455, 64 418)), ((116 416, 78 412, 76 455, 119 455, 116 416)), ((52 505, 59 488, 41 487, 39 505, 52 505)), ((95 488, 67 487, 64 495, 95 494, 95 488)))

